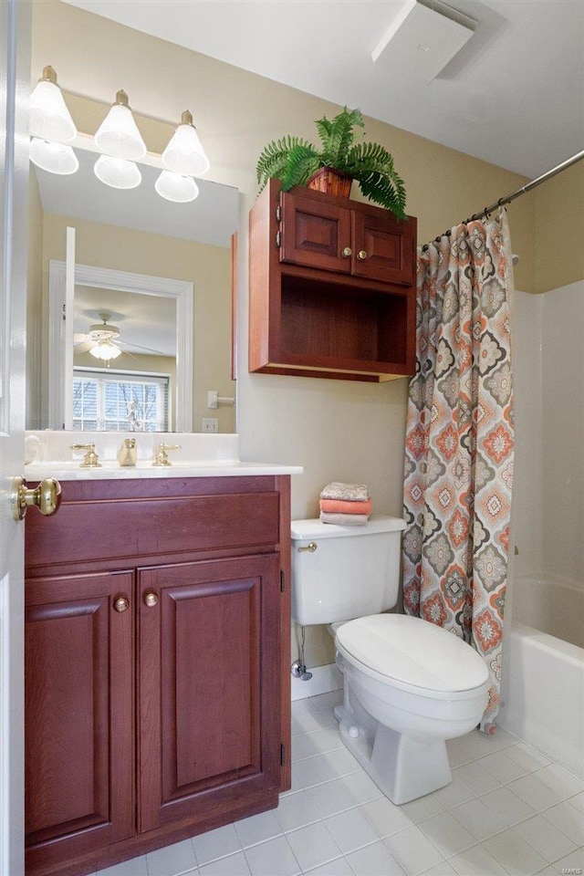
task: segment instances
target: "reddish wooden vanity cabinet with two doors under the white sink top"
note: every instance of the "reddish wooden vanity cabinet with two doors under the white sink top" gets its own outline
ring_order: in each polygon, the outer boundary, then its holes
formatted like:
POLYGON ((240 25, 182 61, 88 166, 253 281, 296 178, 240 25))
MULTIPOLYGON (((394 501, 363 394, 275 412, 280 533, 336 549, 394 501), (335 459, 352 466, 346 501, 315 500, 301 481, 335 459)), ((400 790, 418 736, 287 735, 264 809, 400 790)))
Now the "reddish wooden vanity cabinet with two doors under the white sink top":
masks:
POLYGON ((26 871, 78 876, 289 787, 289 478, 62 489, 26 516, 26 871))

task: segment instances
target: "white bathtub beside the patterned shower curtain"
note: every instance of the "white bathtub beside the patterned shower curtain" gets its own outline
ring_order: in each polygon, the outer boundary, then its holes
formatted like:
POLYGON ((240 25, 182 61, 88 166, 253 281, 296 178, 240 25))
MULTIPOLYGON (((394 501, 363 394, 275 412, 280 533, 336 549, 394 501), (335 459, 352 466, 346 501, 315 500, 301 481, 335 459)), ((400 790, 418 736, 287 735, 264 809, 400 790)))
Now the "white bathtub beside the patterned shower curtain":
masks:
POLYGON ((516 579, 513 618, 498 723, 584 779, 584 591, 516 579))

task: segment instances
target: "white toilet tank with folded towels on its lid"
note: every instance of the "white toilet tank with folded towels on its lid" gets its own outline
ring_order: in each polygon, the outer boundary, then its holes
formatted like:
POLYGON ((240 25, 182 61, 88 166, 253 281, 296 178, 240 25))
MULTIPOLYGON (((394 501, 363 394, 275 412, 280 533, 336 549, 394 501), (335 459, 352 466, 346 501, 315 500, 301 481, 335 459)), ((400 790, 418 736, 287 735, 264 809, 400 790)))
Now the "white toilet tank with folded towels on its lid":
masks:
POLYGON ((382 515, 363 527, 293 520, 292 619, 334 623, 391 609, 398 599, 404 528, 400 517, 382 515))

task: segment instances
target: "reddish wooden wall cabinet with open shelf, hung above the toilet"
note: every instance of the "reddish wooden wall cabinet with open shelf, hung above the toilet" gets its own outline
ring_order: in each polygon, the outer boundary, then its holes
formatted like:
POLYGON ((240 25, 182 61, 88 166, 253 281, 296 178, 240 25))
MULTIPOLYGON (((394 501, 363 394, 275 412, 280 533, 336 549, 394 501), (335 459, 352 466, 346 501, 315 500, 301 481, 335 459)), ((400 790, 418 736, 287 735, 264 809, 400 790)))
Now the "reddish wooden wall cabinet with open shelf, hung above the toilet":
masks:
POLYGON ((249 370, 386 381, 415 370, 416 220, 270 180, 249 226, 249 370))

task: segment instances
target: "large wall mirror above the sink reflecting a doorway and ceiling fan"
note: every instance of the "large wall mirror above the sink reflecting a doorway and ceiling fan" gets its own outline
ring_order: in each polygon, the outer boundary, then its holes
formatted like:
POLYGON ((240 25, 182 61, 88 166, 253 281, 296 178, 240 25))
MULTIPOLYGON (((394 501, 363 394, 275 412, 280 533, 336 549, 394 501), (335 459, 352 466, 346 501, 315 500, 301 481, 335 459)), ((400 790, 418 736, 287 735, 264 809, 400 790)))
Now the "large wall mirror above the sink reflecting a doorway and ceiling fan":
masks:
POLYGON ((27 428, 215 431, 211 418, 235 432, 236 189, 197 180, 193 202, 172 203, 154 190, 159 168, 112 189, 94 152, 76 154, 70 176, 30 165, 27 428), (115 358, 90 352, 100 342, 115 358), (210 409, 210 391, 225 403, 210 409))

